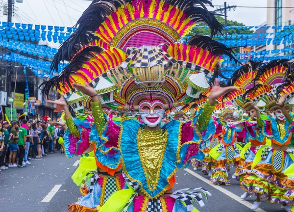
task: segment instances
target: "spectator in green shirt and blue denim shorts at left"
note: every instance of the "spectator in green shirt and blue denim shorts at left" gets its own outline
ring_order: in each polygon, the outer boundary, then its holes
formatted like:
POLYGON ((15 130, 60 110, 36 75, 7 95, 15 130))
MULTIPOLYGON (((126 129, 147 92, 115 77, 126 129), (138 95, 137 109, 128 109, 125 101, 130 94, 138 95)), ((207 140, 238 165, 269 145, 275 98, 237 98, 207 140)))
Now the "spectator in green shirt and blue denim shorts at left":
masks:
POLYGON ((17 129, 18 129, 17 122, 13 121, 11 123, 11 130, 10 130, 9 141, 8 141, 8 146, 10 151, 8 167, 17 167, 17 164, 15 163, 16 153, 18 149, 17 129))

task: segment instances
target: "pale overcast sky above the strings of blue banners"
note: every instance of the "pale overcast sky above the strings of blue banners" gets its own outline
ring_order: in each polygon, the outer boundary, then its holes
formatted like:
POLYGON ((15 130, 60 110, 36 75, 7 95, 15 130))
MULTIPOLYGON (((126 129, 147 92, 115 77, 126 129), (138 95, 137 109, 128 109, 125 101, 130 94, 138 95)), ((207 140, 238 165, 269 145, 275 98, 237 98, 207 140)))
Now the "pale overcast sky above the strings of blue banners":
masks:
MULTIPOLYGON (((226 1, 228 5, 267 6, 267 0, 226 1)), ((7 0, 0 0, 0 21, 7 21, 2 12, 4 2, 7 3, 7 0)), ((212 2, 214 5, 223 5, 224 0, 212 2)), ((23 0, 23 3, 15 3, 12 22, 72 27, 90 3, 91 0, 23 0)), ((209 10, 214 9, 209 7, 209 10)), ((228 12, 228 20, 238 21, 246 26, 259 26, 266 22, 266 19, 266 8, 236 8, 236 11, 228 12)))

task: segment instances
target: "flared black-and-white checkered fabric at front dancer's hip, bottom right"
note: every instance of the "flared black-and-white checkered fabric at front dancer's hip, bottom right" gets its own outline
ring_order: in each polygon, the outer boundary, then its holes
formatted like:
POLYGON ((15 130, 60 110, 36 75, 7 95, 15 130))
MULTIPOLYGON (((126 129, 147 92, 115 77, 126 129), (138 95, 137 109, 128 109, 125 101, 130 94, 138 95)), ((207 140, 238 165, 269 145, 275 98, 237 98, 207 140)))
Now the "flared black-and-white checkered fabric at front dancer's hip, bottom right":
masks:
POLYGON ((200 188, 185 188, 181 190, 177 190, 172 193, 171 197, 182 201, 185 203, 187 211, 193 211, 194 207, 193 205, 197 202, 200 207, 204 206, 204 202, 202 201, 202 198, 204 197, 206 200, 208 199, 208 196, 211 196, 211 193, 209 193, 206 189, 200 187, 200 188))

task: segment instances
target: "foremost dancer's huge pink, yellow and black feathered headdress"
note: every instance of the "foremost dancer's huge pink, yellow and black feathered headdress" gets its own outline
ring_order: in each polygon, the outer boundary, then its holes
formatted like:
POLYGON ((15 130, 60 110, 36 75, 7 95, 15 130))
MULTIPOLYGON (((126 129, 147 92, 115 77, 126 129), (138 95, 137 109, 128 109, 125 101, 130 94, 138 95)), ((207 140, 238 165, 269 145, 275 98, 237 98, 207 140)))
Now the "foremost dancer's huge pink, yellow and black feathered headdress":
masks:
MULTIPOLYGON (((45 84, 44 93, 64 89, 73 78, 93 86, 103 106, 119 111, 135 110, 142 101, 160 101, 166 108, 186 105, 194 99, 194 91, 186 94, 189 86, 199 87, 189 81, 190 74, 210 77, 221 54, 234 59, 230 48, 209 37, 175 44, 199 23, 211 36, 221 31, 205 4, 210 0, 94 0, 52 67, 70 63, 45 84)), ((84 108, 91 110, 90 103, 90 97, 83 100, 84 108)))

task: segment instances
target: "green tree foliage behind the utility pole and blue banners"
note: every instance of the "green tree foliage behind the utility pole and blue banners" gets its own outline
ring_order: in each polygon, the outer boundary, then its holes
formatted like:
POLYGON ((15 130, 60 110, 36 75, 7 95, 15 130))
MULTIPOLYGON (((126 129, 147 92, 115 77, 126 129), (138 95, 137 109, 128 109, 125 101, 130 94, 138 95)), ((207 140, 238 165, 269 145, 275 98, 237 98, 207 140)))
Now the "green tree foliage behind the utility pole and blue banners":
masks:
MULTIPOLYGON (((217 16, 217 20, 224 26, 224 18, 222 16, 217 16)), ((194 35, 209 35, 210 36, 210 30, 209 28, 205 29, 205 25, 200 25, 201 27, 194 28, 189 36, 194 35)), ((227 26, 245 26, 242 23, 236 22, 236 21, 227 21, 227 26)), ((224 34, 224 29, 222 30, 222 33, 224 34)), ((227 30, 227 34, 251 34, 253 33, 253 30, 250 29, 237 29, 237 28, 230 28, 227 30)), ((219 40, 219 38, 216 38, 216 40, 219 40)))

